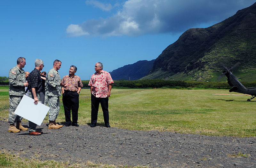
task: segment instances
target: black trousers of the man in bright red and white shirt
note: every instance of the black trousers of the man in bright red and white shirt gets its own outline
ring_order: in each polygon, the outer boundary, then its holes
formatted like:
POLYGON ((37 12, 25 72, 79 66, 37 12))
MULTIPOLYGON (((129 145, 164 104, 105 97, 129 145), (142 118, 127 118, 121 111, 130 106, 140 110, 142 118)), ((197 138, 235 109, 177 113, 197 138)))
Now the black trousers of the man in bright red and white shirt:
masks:
POLYGON ((91 124, 97 123, 99 105, 102 108, 105 125, 109 124, 108 116, 108 97, 98 98, 91 94, 92 113, 91 113, 91 124))

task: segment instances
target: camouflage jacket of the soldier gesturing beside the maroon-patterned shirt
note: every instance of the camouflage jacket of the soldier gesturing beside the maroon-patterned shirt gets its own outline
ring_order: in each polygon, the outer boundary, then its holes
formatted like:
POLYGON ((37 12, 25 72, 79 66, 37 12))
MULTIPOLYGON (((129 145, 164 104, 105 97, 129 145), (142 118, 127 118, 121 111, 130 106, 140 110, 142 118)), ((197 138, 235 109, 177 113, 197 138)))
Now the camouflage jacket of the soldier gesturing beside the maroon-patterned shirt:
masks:
POLYGON ((47 96, 58 97, 61 96, 60 74, 57 70, 52 68, 46 76, 46 92, 47 96))

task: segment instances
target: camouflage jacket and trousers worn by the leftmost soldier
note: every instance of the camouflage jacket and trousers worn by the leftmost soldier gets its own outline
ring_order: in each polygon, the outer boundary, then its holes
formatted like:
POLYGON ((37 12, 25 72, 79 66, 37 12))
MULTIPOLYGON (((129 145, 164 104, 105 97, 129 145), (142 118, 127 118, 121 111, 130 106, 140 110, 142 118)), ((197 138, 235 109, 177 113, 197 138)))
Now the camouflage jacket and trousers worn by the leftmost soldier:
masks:
POLYGON ((25 94, 26 83, 25 71, 19 68, 17 65, 13 67, 9 72, 9 119, 8 123, 14 124, 17 121, 21 121, 22 117, 14 114, 18 107, 23 95, 25 94))

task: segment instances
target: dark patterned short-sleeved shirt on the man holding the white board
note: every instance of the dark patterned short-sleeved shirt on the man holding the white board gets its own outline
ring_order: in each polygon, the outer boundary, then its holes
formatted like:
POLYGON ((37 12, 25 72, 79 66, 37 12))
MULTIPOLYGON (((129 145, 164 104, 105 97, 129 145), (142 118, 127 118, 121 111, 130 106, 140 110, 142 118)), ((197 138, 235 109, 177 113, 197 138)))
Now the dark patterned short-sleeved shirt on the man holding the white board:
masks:
POLYGON ((42 78, 40 76, 40 71, 38 69, 34 69, 29 73, 28 76, 28 85, 29 91, 32 93, 31 88, 35 88, 36 92, 42 91, 42 78))

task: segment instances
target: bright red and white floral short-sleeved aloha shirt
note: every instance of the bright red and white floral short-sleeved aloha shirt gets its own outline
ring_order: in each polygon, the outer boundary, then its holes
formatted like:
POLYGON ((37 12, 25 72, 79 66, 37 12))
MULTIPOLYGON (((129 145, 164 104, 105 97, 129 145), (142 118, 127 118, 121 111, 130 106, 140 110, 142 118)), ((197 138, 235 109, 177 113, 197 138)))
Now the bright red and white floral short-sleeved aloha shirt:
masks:
POLYGON ((100 74, 95 72, 89 82, 92 86, 92 94, 98 98, 106 98, 108 93, 108 85, 113 84, 114 81, 107 71, 102 70, 100 74))

